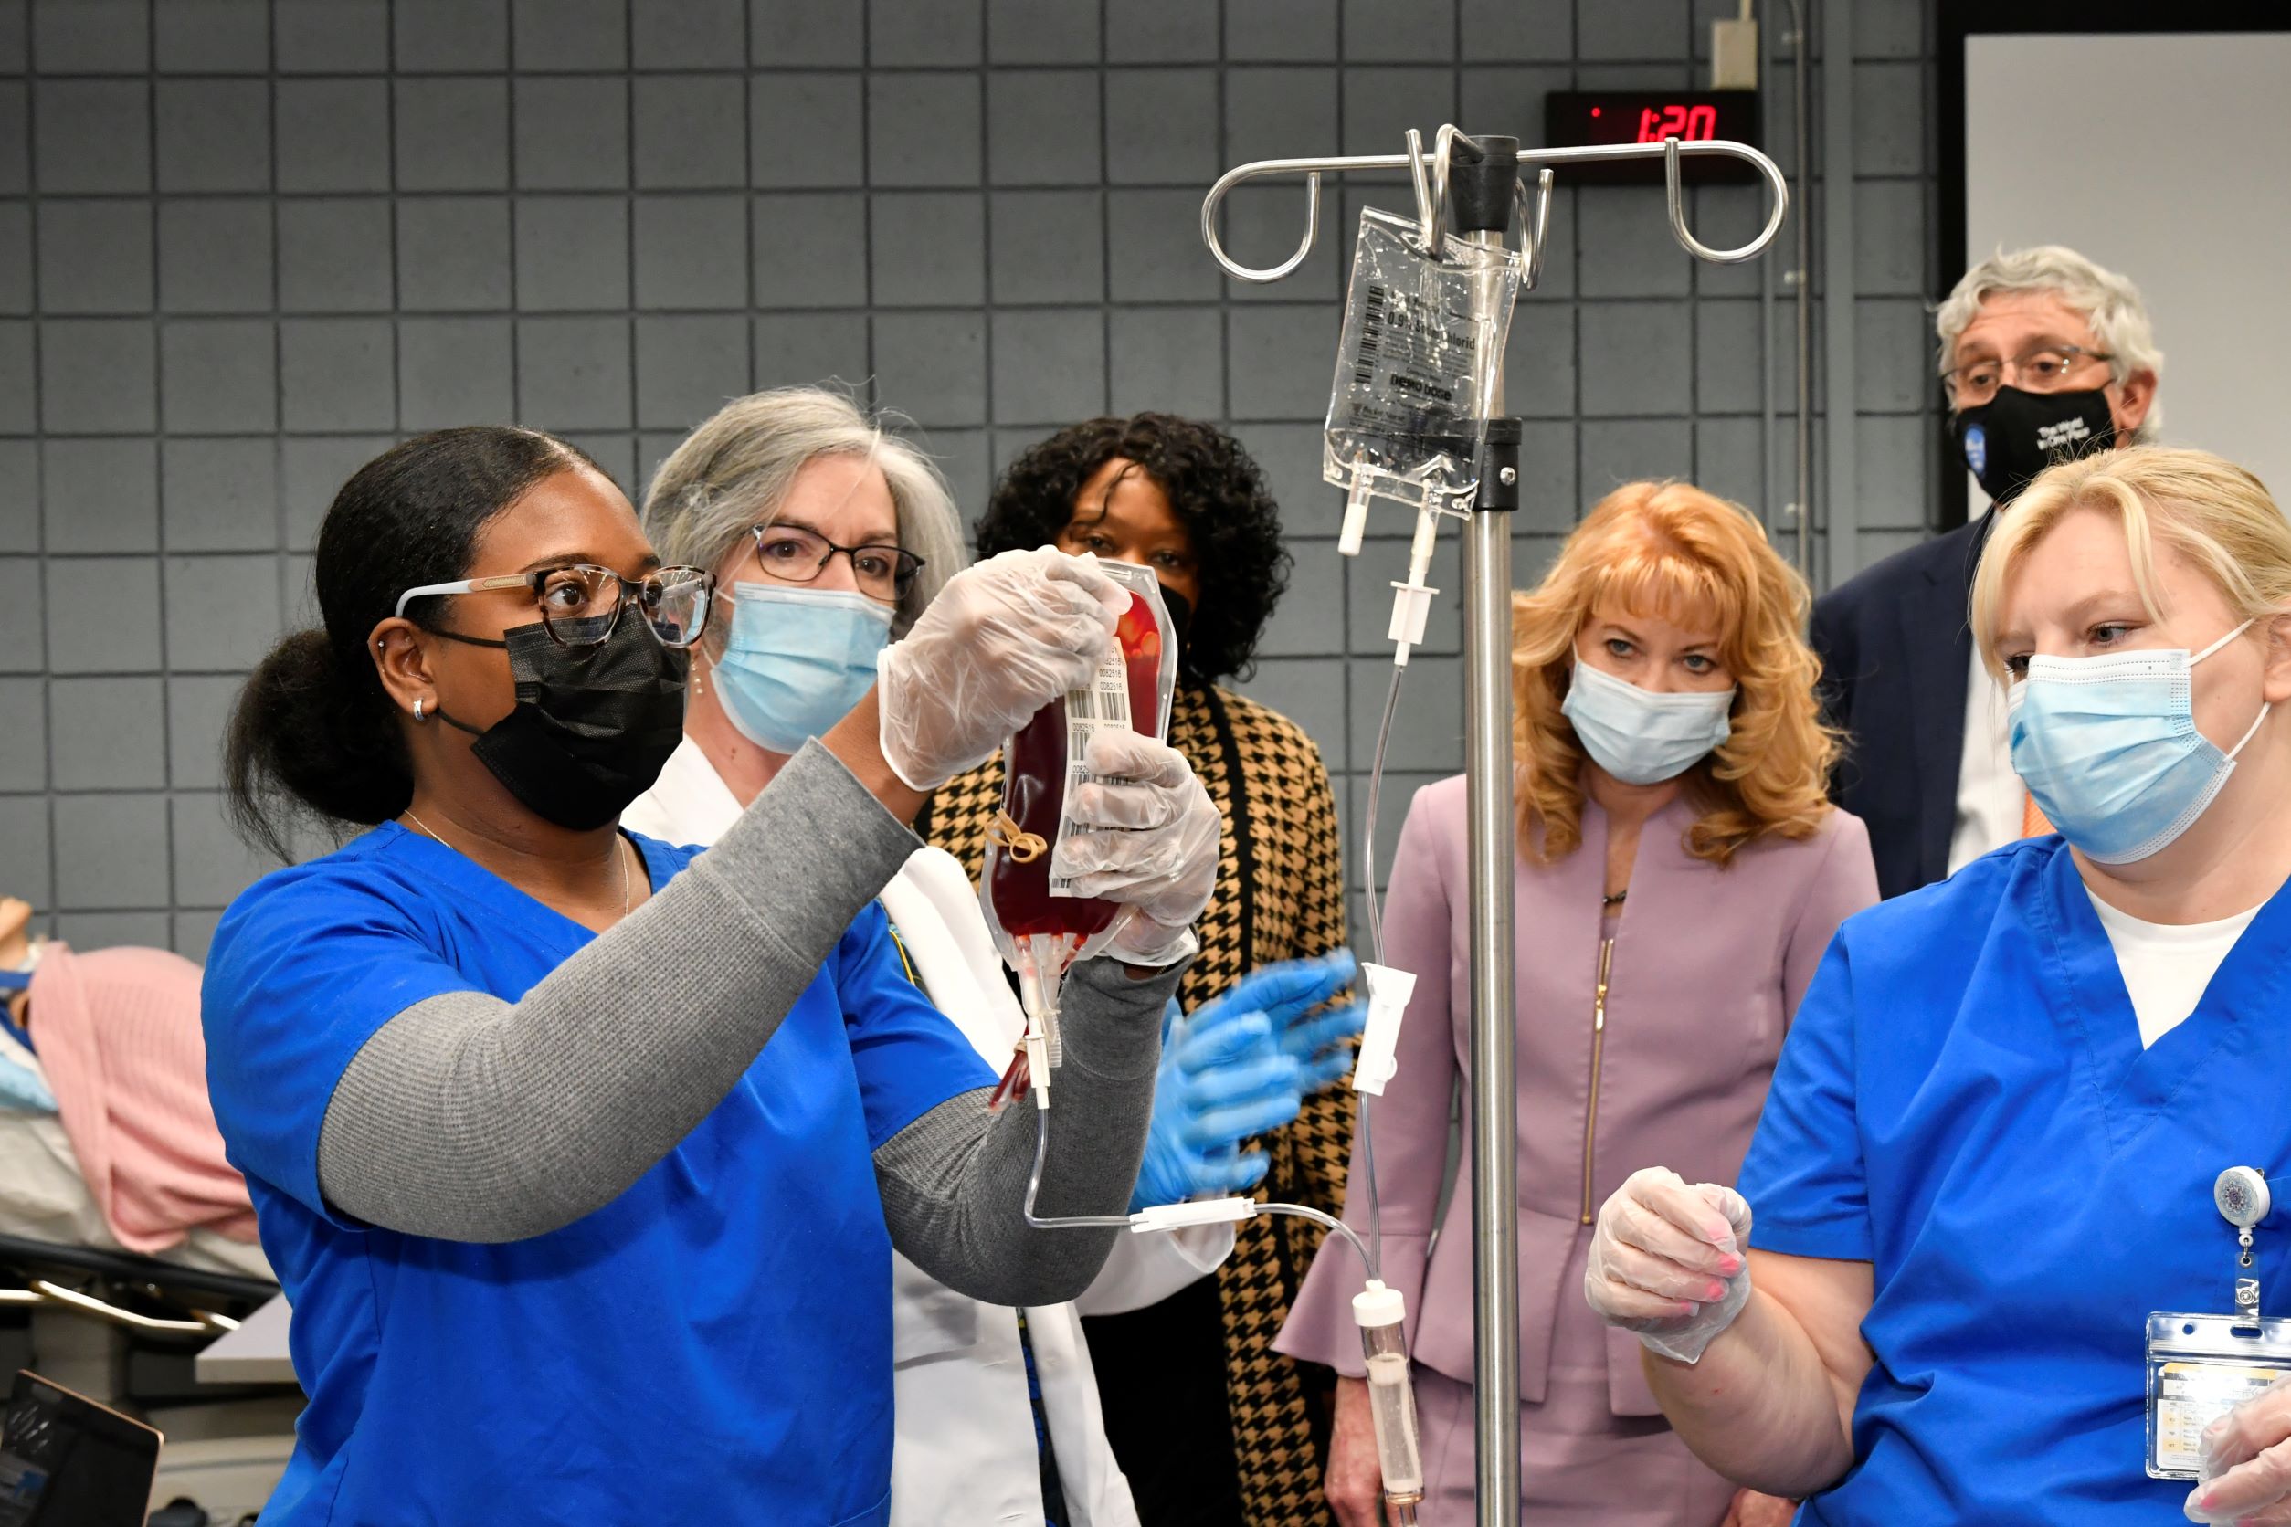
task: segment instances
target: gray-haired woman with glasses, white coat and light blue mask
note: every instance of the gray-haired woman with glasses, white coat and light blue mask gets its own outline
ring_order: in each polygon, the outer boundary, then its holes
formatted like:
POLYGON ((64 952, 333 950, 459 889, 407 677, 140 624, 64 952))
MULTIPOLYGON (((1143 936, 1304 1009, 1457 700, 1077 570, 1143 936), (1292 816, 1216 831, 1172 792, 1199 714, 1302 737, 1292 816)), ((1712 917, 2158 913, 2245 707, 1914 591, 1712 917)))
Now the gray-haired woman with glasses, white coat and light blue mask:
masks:
MULTIPOLYGON (((912 444, 841 394, 788 387, 735 398, 694 430, 653 478, 644 520, 667 556, 715 570, 729 618, 701 643, 685 744, 623 820, 671 842, 715 842, 790 767, 806 735, 832 730, 866 696, 889 636, 914 625, 967 561, 960 517, 946 481, 912 444)), ((981 1060, 1001 1067, 1024 1016, 960 861, 919 849, 882 902, 914 982, 981 1060)), ((1219 1074, 1246 1074, 1258 1060, 1281 1071, 1274 1023, 1301 1016, 1345 980, 1343 968, 1299 968, 1294 1014, 1260 1019, 1251 1046, 1219 1058, 1219 1074)), ((1221 1124, 1184 1113, 1175 1087, 1155 1110, 1184 1115, 1221 1149, 1285 1124, 1299 1103, 1299 1083, 1285 1074, 1260 1097, 1223 1099, 1221 1124)), ((1152 1133, 1150 1161, 1168 1133, 1152 1133)), ((893 1527, 1136 1527, 1079 1314, 1159 1303, 1230 1250, 1228 1225, 1129 1236, 1077 1303, 1022 1310, 997 1310, 900 1259, 893 1527)))

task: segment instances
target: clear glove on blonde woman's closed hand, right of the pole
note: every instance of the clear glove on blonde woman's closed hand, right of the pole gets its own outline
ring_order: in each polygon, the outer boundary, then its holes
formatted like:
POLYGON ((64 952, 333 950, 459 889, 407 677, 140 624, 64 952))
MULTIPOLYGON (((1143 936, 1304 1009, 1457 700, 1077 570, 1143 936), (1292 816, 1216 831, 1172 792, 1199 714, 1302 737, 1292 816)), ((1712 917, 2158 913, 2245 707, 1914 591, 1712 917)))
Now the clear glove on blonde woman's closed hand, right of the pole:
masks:
POLYGON ((1631 1172, 1599 1206, 1583 1298, 1608 1326, 1677 1362, 1702 1362, 1750 1303, 1750 1204, 1670 1168, 1631 1172))

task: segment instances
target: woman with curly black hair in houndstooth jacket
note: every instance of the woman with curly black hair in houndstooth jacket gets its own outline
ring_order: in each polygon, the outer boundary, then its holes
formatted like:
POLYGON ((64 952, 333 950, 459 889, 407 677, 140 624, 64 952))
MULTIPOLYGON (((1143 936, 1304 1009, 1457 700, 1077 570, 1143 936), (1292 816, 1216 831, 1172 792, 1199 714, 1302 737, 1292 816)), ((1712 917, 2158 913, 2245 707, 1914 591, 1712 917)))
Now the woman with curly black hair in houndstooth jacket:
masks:
MULTIPOLYGON (((1281 515, 1249 451, 1171 414, 1063 428, 1010 462, 978 524, 981 556, 1042 545, 1152 568, 1178 616, 1168 742, 1226 822, 1182 1005, 1219 996, 1255 966, 1338 948, 1345 881, 1320 749, 1288 717, 1221 687, 1251 673, 1288 586, 1281 515)), ((997 758, 946 785, 916 822, 974 879, 1001 785, 997 758)), ((1349 1140, 1352 1092, 1306 1099, 1297 1122, 1255 1142, 1267 1158, 1258 1200, 1336 1213, 1349 1140)), ((1272 1351, 1317 1239, 1299 1220, 1251 1220, 1214 1277, 1148 1310, 1084 1321, 1107 1438, 1143 1527, 1326 1520, 1331 1378, 1272 1351)))

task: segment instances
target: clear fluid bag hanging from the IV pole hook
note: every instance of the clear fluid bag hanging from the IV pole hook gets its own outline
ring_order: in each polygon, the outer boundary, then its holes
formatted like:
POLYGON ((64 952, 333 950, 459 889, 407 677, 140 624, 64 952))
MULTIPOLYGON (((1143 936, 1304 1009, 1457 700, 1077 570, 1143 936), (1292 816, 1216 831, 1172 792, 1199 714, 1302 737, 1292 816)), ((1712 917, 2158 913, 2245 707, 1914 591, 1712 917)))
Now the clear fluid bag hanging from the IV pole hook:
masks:
POLYGON ((1432 256, 1420 238, 1414 217, 1361 211, 1322 476, 1363 506, 1377 495, 1464 513, 1480 488, 1521 261, 1452 234, 1432 256))

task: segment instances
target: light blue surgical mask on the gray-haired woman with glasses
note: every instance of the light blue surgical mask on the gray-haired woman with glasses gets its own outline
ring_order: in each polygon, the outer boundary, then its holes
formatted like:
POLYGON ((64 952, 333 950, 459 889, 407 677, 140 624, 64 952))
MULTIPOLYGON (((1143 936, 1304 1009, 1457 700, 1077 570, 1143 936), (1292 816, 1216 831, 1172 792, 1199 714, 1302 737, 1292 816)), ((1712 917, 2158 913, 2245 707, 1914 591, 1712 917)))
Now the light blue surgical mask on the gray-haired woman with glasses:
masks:
POLYGON ((724 714, 774 753, 825 735, 875 685, 891 614, 841 588, 733 584, 731 639, 715 662, 724 714))

